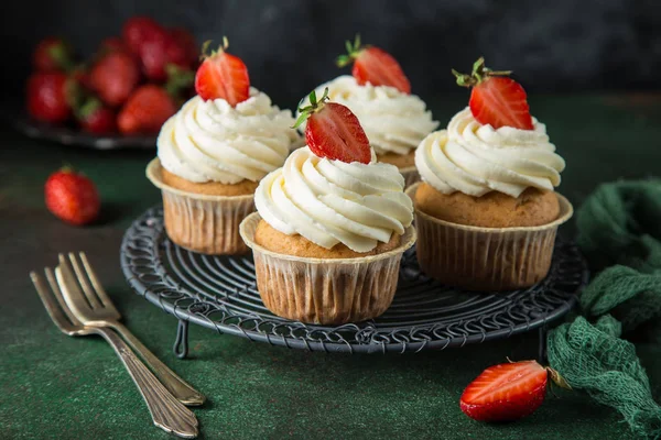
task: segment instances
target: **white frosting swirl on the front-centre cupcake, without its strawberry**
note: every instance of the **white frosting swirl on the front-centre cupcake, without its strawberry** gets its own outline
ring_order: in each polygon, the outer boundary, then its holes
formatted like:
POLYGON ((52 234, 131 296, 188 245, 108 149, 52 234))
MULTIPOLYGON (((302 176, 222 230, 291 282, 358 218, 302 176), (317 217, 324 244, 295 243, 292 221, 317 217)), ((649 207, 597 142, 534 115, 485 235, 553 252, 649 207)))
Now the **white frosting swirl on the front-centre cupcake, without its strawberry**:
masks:
POLYGON ((369 252, 413 221, 395 166, 321 158, 307 146, 264 177, 254 193, 257 210, 271 227, 301 234, 325 249, 344 243, 369 252))

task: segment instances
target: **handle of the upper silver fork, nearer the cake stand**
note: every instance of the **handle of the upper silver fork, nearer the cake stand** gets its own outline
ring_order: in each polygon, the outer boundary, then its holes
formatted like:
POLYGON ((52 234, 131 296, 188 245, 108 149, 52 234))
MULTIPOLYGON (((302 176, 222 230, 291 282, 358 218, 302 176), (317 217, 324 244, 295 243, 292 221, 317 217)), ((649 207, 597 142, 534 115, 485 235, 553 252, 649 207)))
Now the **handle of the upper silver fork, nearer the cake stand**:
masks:
POLYGON ((107 321, 111 328, 117 330, 119 334, 131 345, 133 350, 144 360, 152 369, 154 374, 161 380, 161 383, 167 388, 178 402, 188 406, 197 406, 204 404, 205 397, 195 388, 188 385, 183 378, 176 375, 167 367, 159 358, 156 358, 147 346, 140 342, 138 338, 130 332, 121 322, 107 321))

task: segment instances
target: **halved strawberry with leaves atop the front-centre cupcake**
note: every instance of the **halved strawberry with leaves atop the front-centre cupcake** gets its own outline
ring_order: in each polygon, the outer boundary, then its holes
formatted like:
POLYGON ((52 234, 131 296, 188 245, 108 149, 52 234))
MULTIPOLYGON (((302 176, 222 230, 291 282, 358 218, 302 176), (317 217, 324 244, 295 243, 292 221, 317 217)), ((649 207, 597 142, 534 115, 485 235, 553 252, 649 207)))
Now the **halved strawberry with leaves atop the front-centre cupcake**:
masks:
POLYGON ((310 150, 319 157, 369 164, 371 150, 358 118, 347 107, 327 100, 327 87, 319 100, 313 90, 310 106, 299 109, 301 116, 294 128, 307 120, 305 140, 310 150))

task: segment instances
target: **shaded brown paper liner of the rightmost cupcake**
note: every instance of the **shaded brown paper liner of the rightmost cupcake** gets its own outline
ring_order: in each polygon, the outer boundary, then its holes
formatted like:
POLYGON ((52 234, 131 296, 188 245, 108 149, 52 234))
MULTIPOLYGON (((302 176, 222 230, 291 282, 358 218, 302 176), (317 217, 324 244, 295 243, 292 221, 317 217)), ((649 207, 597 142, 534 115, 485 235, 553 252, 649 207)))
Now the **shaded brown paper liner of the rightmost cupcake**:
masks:
MULTIPOLYGON (((407 190, 414 198, 419 185, 407 190)), ((418 262, 429 276, 472 290, 510 290, 542 280, 551 267, 557 228, 573 215, 557 194, 560 217, 540 227, 479 228, 415 209, 418 262)))

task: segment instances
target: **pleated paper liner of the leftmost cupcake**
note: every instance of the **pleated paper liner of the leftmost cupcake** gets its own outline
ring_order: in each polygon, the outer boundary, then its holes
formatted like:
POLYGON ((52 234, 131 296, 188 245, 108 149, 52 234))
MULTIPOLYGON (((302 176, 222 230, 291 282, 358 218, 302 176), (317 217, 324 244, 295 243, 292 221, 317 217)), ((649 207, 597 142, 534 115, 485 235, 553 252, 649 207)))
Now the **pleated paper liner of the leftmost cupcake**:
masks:
POLYGON ((183 191, 161 179, 161 163, 147 167, 148 178, 161 189, 167 237, 177 245, 203 254, 241 254, 249 251, 239 226, 254 212, 253 195, 210 196, 183 191))

